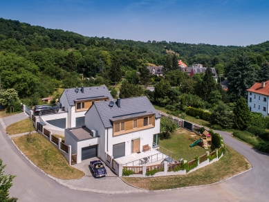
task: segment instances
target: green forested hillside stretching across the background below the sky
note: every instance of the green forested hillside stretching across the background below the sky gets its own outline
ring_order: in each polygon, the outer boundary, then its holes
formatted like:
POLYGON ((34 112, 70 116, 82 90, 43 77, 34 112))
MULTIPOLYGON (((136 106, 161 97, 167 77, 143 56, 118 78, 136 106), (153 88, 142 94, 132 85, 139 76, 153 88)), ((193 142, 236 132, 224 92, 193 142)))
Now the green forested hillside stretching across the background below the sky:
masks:
POLYGON ((176 59, 182 59, 186 64, 214 66, 218 73, 223 74, 228 74, 232 68, 230 61, 243 52, 257 69, 266 59, 269 60, 269 42, 247 47, 134 42, 84 37, 1 18, 1 87, 16 89, 20 98, 41 98, 59 86, 109 86, 118 82, 122 75, 137 84, 136 72, 143 66, 149 63, 166 65, 167 50, 178 53, 176 59), (81 80, 82 74, 89 80, 81 80))

